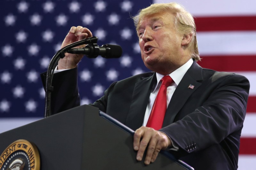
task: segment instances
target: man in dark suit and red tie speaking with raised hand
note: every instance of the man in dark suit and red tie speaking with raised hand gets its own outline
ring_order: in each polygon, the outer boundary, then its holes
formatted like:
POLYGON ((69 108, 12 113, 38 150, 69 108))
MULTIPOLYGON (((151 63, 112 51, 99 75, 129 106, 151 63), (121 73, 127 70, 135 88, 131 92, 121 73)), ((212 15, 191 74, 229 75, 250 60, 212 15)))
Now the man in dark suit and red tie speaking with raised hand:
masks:
MULTIPOLYGON (((248 80, 196 63, 200 58, 194 19, 179 4, 152 4, 134 20, 142 60, 153 72, 113 83, 92 105, 135 130, 136 159, 145 154, 146 165, 168 148, 195 169, 237 169, 248 80), (168 107, 166 112, 161 107, 165 114, 160 129, 154 129, 148 122, 166 76, 172 78, 164 91, 168 107)), ((73 26, 62 47, 91 36, 89 29, 73 26)), ((58 70, 68 70, 54 75, 52 113, 79 105, 76 77, 81 58, 66 54, 59 61, 58 70)))

